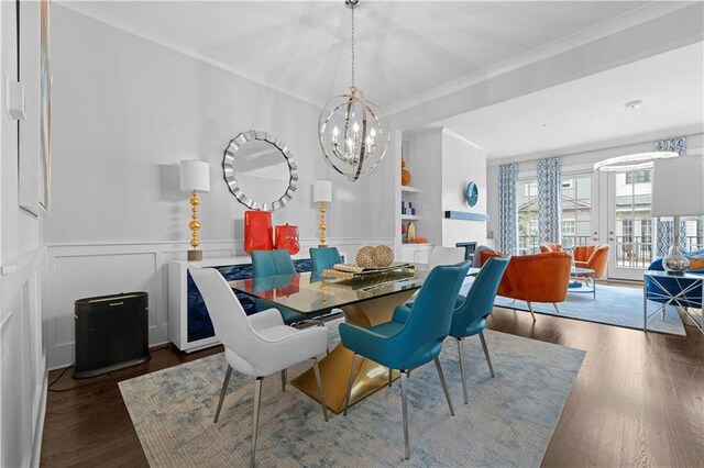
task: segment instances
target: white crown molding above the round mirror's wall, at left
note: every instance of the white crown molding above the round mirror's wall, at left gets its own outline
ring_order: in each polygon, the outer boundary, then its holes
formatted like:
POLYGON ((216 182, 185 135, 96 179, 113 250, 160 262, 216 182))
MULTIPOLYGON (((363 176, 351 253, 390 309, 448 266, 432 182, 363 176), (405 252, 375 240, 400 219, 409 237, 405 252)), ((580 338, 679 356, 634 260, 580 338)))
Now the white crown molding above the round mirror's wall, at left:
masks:
MULTIPOLYGON (((166 2, 165 2, 166 3, 166 2)), ((318 102, 311 93, 298 86, 285 85, 273 80, 266 74, 249 67, 237 60, 224 57, 200 44, 175 36, 160 27, 156 27, 143 20, 124 14, 114 8, 100 1, 55 1, 54 5, 64 7, 76 13, 88 16, 92 20, 117 27, 143 40, 158 44, 170 51, 183 54, 195 60, 202 62, 215 68, 227 71, 231 75, 248 79, 257 85, 264 86, 280 93, 299 99, 304 102, 321 108, 323 103, 318 102)))

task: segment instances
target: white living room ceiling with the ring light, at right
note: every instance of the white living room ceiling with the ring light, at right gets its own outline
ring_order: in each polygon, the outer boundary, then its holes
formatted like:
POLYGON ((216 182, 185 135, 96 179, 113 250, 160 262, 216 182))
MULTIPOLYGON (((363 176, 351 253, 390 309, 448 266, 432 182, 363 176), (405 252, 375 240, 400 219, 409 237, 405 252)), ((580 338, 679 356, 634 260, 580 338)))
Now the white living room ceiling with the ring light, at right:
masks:
POLYGON ((441 122, 490 158, 550 156, 604 142, 704 131, 704 43, 490 105, 441 122), (648 118, 624 104, 641 99, 648 118), (553 154, 551 154, 551 152, 553 154))

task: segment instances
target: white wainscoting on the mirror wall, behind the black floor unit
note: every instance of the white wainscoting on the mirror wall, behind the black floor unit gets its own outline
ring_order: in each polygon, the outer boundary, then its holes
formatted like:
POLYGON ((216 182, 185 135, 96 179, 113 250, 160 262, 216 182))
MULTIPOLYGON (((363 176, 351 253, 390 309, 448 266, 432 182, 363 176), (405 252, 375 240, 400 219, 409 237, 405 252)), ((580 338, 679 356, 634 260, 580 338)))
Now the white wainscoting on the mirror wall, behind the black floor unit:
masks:
MULTIPOLYGON (((318 245, 300 241, 301 252, 318 245)), ((328 239, 354 259, 363 245, 385 244, 392 237, 328 239)), ((150 345, 168 341, 168 261, 186 259, 186 242, 96 243, 48 245, 44 288, 44 331, 48 368, 74 363, 74 302, 80 298, 116 292, 150 294, 150 345)), ((202 241, 204 258, 244 255, 241 241, 202 241)))

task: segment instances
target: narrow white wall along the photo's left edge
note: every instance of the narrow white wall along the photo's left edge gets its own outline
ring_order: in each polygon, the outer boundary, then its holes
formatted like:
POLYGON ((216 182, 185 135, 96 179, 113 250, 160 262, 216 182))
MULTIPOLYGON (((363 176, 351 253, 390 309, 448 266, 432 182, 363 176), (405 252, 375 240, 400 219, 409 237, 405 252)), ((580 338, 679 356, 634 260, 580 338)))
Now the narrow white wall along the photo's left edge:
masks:
MULTIPOLYGON (((16 78, 15 2, 0 2, 0 466, 38 464, 46 404, 46 355, 42 347, 41 285, 44 250, 38 218, 19 208, 18 156, 38 158, 38 2, 22 3, 21 80, 28 119, 18 155, 18 123, 6 110, 6 76, 16 78)), ((36 161, 36 159, 35 159, 36 161)), ((32 165, 30 165, 32 166, 32 165)), ((38 165, 33 166, 35 169, 38 165)), ((28 177, 38 178, 38 172, 28 177)), ((36 179, 31 182, 36 183, 36 179)), ((36 202, 38 200, 35 200, 36 202)))

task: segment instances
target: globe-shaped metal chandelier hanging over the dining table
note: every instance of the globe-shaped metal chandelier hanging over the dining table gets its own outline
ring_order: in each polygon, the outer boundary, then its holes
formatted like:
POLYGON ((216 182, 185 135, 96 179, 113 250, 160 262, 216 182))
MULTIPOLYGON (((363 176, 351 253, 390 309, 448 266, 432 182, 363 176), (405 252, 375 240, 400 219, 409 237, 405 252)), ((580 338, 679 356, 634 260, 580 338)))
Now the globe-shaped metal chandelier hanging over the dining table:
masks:
POLYGON ((326 161, 354 181, 370 174, 388 148, 389 132, 382 111, 354 83, 354 9, 360 0, 345 0, 352 11, 352 86, 332 98, 320 112, 318 138, 326 161))

